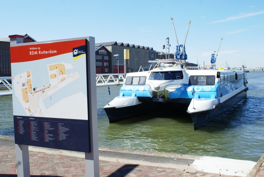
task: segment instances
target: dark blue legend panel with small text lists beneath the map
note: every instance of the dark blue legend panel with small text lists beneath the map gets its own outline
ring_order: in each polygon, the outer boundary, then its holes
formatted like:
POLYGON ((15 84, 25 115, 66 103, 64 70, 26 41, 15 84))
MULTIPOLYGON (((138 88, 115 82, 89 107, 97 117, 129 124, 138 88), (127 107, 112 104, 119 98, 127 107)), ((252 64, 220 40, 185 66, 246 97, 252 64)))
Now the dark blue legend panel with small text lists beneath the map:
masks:
POLYGON ((88 120, 14 116, 15 143, 91 152, 88 120))

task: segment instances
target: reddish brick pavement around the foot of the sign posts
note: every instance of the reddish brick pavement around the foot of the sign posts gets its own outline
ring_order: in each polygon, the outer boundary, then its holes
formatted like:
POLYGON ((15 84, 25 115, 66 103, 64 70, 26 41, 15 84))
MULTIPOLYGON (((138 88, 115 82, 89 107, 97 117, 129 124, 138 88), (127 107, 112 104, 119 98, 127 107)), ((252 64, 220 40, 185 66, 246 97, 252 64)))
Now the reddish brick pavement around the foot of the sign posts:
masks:
MULTIPOLYGON (((85 176, 84 158, 29 151, 31 176, 85 176)), ((144 166, 118 161, 99 161, 100 176, 221 176, 227 175, 199 172, 190 173, 174 168, 144 166)), ((16 176, 16 151, 11 147, 0 147, 0 176, 16 176)), ((262 176, 260 176, 262 177, 262 176)))

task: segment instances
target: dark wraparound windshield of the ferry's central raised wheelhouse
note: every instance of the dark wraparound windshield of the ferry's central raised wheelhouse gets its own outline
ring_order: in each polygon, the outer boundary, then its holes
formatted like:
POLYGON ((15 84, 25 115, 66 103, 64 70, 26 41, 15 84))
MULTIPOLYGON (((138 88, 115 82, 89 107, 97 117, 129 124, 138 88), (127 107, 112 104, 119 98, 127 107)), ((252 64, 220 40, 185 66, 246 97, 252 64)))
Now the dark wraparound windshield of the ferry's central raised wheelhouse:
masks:
POLYGON ((152 72, 149 80, 177 80, 183 79, 182 71, 152 72))

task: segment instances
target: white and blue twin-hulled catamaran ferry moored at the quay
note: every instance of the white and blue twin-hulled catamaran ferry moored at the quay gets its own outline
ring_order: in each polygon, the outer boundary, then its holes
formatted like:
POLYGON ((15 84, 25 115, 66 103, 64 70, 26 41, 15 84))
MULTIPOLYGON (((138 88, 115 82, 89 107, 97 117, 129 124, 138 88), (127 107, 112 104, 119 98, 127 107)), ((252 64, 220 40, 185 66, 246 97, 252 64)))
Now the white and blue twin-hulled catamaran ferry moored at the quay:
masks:
POLYGON ((119 96, 103 108, 110 122, 173 107, 187 111, 197 129, 247 96, 244 71, 185 70, 172 64, 176 61, 156 62, 153 70, 126 75, 119 96))

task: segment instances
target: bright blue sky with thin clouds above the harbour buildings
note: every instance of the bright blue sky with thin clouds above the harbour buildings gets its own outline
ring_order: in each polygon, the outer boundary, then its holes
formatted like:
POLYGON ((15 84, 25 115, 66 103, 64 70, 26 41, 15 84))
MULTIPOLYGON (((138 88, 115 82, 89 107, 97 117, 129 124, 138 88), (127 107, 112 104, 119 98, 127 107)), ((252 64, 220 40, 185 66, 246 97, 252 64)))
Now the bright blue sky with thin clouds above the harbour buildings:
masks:
POLYGON ((264 1, 1 1, 0 38, 29 34, 37 41, 95 37, 161 50, 165 39, 175 51, 186 40, 189 62, 210 64, 223 38, 217 66, 264 67, 264 1))

